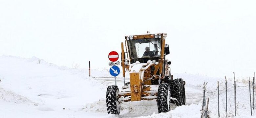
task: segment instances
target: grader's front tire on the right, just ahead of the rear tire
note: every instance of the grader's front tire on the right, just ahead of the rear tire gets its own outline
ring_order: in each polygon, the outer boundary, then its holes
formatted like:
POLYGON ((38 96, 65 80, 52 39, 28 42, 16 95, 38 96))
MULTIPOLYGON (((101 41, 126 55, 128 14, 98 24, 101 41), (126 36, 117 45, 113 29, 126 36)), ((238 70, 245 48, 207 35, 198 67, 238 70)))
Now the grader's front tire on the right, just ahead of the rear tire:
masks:
POLYGON ((157 107, 158 113, 168 112, 170 100, 170 89, 168 83, 161 83, 158 87, 157 107))

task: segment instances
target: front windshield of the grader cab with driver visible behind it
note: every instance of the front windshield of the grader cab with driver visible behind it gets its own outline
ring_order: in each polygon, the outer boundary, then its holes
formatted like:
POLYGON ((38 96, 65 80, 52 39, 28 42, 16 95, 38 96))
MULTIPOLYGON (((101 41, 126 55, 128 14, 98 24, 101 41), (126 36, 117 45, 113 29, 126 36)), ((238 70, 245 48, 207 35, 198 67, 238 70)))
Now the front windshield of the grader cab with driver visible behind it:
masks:
POLYGON ((129 40, 131 58, 160 57, 160 40, 155 38, 129 40))

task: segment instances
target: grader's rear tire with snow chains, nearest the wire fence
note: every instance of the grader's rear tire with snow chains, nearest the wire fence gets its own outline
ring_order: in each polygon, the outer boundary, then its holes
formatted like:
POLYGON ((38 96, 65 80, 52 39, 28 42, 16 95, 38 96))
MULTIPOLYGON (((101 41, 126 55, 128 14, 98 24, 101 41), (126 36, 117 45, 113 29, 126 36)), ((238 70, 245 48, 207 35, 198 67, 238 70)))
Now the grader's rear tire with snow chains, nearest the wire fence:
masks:
POLYGON ((174 79, 170 81, 170 91, 171 97, 173 99, 170 100, 171 104, 175 104, 176 106, 184 105, 185 103, 185 92, 184 83, 182 79, 174 79))

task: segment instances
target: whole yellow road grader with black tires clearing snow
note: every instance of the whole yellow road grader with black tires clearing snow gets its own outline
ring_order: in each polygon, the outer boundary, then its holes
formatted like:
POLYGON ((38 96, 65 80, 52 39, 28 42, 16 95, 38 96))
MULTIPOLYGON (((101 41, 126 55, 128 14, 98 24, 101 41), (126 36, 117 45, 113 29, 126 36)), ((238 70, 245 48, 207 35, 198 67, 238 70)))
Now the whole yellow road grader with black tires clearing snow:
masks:
POLYGON ((130 82, 121 89, 108 86, 108 114, 119 115, 121 102, 154 100, 159 113, 185 105, 185 81, 173 79, 171 62, 165 58, 170 53, 166 37, 166 33, 125 36, 126 52, 121 43, 121 66, 123 77, 129 71, 130 82))

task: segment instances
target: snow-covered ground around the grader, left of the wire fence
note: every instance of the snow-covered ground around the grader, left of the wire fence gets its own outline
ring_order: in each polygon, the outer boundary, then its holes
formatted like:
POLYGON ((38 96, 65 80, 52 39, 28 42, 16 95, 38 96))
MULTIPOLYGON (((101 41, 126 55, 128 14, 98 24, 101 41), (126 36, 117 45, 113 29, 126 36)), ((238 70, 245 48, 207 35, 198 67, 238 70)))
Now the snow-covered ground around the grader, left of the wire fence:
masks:
MULTIPOLYGON (((186 73, 174 77, 186 81, 185 106, 158 114, 156 101, 123 102, 117 116, 106 110, 106 88, 115 83, 108 69, 93 69, 89 77, 88 70, 58 67, 35 57, 0 56, 0 114, 1 118, 199 118, 203 82, 214 90, 220 78, 186 73)), ((118 88, 123 84, 120 75, 118 88)))

